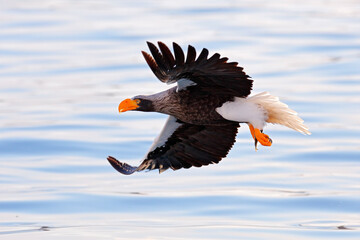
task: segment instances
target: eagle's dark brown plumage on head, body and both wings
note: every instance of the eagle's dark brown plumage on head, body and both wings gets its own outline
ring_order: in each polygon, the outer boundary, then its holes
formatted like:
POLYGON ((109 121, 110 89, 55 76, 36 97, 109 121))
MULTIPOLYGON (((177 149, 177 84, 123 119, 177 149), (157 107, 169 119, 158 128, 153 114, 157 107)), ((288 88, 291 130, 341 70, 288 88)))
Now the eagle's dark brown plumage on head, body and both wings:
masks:
POLYGON ((206 48, 196 58, 195 48, 189 45, 185 58, 176 43, 175 56, 162 42, 158 42, 160 51, 154 44, 147 44, 152 56, 144 51, 142 54, 155 76, 164 83, 180 80, 185 84, 159 94, 136 96, 140 103, 134 110, 168 114, 174 118, 170 117, 166 125, 178 126, 166 133, 169 136, 159 146, 150 149, 139 167, 113 157, 108 158, 109 162, 123 174, 218 163, 233 146, 239 124, 224 119, 215 109, 235 96, 249 95, 252 80, 237 63, 227 63, 228 59, 220 58, 218 53, 208 58, 206 48))

